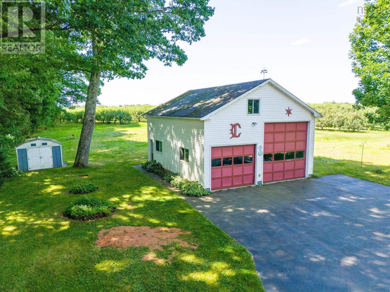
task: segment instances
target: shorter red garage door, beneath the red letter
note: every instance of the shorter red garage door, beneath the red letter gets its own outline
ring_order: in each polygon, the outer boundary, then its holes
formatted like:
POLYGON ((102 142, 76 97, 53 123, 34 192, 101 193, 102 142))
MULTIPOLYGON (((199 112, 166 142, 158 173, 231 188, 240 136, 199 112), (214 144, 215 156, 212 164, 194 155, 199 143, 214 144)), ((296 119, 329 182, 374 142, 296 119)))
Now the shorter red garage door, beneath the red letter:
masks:
POLYGON ((255 145, 211 148, 211 190, 254 183, 255 145))

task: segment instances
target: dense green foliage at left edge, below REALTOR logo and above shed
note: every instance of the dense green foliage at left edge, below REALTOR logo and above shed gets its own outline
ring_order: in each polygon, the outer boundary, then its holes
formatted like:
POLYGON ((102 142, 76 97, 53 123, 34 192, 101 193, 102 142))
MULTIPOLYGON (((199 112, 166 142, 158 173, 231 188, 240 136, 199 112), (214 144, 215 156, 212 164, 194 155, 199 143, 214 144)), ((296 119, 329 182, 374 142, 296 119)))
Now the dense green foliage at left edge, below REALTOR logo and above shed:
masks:
POLYGON ((11 167, 7 154, 23 136, 53 125, 62 107, 85 100, 82 76, 64 70, 60 52, 67 46, 47 32, 46 54, 0 54, 0 177, 11 167))

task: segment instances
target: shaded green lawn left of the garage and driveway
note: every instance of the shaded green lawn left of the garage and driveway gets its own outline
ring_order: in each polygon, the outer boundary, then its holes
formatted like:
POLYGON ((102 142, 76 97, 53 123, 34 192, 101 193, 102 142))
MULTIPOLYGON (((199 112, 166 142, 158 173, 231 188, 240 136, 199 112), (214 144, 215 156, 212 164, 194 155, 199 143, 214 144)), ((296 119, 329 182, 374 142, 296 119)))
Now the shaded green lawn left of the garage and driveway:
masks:
MULTIPOLYGON (((6 179, 0 188, 1 291, 264 291, 243 246, 132 167, 147 159, 146 126, 97 124, 90 167, 6 179), (97 185, 94 196, 118 206, 113 216, 64 218, 64 209, 82 196, 69 193, 78 183, 97 185), (148 248, 94 245, 99 230, 120 225, 182 228, 192 232, 185 236, 199 248, 177 246, 172 264, 155 264, 142 260, 148 248)), ((72 165, 78 145, 78 139, 66 139, 72 131, 79 137, 80 124, 62 123, 36 135, 65 136, 63 158, 72 165)), ((159 253, 168 252, 167 247, 159 253)))

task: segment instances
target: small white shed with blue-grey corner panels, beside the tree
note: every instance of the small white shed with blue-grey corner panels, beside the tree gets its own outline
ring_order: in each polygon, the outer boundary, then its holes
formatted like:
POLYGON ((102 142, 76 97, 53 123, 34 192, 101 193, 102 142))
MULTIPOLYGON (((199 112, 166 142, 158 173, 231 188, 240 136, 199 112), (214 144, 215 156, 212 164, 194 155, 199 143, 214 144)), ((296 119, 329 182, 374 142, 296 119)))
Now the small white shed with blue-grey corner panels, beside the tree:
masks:
POLYGON ((21 171, 32 171, 62 167, 61 142, 51 138, 36 137, 18 144, 18 168, 21 171))

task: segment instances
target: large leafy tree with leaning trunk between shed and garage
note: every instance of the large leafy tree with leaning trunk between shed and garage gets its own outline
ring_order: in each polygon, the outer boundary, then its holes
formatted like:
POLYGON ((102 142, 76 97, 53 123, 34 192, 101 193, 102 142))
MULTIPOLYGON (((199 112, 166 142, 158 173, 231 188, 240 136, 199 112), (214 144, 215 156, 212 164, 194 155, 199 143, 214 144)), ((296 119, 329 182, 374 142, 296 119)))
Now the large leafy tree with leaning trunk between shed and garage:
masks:
POLYGON ((170 66, 187 60, 178 42, 196 42, 214 13, 208 0, 47 1, 46 26, 79 47, 68 67, 89 79, 83 128, 74 167, 88 164, 101 79, 145 76, 144 60, 170 66), (65 5, 64 5, 65 4, 65 5))

